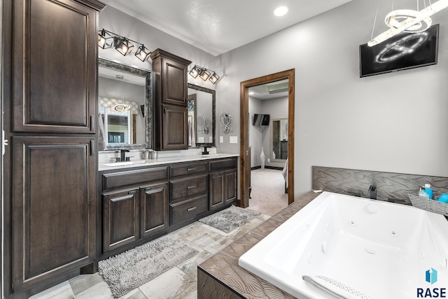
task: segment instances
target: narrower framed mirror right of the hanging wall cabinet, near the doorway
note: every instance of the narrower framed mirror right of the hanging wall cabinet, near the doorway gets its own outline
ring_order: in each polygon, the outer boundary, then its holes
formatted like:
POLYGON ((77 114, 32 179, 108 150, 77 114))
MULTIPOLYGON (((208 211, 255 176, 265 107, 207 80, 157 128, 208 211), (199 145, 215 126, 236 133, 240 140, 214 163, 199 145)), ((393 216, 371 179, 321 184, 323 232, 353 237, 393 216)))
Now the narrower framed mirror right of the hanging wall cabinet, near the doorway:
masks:
POLYGON ((188 83, 188 147, 216 146, 216 91, 188 83))

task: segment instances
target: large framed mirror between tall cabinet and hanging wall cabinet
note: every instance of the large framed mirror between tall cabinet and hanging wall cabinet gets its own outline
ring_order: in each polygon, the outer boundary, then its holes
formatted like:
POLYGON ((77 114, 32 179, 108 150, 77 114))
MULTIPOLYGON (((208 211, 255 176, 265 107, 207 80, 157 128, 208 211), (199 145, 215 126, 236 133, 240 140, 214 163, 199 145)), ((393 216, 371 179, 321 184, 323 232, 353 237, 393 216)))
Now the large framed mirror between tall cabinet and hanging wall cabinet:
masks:
POLYGON ((99 150, 152 147, 153 73, 98 59, 99 150))

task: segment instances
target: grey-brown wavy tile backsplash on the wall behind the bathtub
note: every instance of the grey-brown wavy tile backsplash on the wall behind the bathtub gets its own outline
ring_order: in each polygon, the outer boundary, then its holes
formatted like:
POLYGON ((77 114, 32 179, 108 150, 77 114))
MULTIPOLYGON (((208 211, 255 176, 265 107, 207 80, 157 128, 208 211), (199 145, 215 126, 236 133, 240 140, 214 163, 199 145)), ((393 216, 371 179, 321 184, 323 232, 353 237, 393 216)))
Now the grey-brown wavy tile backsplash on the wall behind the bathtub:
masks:
POLYGON ((356 170, 312 166, 312 189, 369 198, 369 187, 374 182, 377 186, 377 199, 397 198, 397 203, 411 205, 407 194, 417 194, 419 188, 431 184, 435 196, 448 192, 448 177, 431 177, 427 175, 408 175, 403 173, 385 173, 372 170, 356 170), (404 201, 403 201, 404 200, 404 201))

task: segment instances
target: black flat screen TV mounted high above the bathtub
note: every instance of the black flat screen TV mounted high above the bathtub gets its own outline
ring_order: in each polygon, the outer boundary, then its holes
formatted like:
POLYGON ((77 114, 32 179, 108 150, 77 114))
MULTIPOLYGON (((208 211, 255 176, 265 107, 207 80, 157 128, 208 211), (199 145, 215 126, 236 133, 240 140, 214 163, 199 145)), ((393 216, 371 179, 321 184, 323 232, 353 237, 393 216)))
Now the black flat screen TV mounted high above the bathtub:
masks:
POLYGON ((359 46, 359 76, 367 77, 437 64, 439 24, 414 34, 398 34, 374 45, 359 46))

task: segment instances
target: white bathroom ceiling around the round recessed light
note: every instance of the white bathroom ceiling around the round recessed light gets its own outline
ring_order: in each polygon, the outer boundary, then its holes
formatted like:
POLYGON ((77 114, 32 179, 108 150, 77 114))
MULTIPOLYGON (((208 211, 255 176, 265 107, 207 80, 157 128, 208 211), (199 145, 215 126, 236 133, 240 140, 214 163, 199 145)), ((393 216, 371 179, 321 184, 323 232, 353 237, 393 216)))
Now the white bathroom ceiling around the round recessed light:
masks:
POLYGON ((351 0, 104 0, 165 33, 218 56, 351 0), (283 17, 273 11, 287 6, 283 17))

